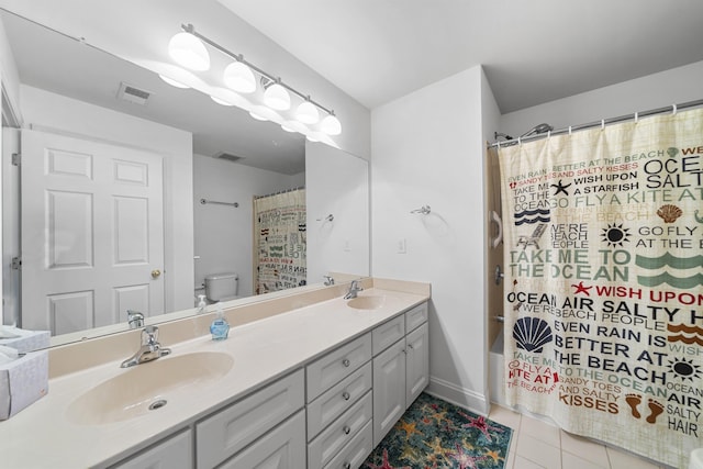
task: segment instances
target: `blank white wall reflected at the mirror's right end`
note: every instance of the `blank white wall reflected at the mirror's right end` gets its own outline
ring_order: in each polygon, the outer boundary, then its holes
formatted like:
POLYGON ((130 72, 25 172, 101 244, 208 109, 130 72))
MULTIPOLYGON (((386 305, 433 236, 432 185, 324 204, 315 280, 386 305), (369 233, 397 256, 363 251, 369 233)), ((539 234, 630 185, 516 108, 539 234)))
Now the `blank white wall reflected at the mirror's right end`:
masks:
POLYGON ((370 273, 368 161, 324 144, 305 144, 308 282, 328 272, 370 273), (334 216, 332 222, 324 219, 334 216))

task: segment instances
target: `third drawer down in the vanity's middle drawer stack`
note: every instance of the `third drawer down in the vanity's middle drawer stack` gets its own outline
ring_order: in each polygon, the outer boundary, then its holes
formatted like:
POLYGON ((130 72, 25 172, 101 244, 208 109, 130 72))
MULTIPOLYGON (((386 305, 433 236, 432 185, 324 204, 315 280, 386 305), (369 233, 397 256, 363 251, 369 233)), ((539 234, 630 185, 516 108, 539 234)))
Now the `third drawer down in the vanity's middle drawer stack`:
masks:
POLYGON ((369 391, 308 445, 308 469, 322 469, 364 428, 372 415, 373 400, 369 391))

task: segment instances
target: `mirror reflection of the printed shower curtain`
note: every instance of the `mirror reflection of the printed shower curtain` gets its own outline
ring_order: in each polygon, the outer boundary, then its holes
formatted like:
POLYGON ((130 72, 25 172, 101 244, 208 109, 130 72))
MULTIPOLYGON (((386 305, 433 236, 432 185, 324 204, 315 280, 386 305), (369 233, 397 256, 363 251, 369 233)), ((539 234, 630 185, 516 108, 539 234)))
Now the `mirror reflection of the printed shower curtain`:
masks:
POLYGON ((254 199, 256 294, 305 284, 305 189, 254 199))

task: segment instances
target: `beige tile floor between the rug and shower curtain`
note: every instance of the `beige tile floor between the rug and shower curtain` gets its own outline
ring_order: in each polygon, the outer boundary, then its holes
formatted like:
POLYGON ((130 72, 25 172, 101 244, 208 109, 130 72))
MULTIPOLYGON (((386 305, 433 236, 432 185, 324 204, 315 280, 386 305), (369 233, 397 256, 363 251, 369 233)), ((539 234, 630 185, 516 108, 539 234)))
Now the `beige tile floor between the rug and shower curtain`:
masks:
POLYGON ((513 428, 505 469, 667 469, 500 405, 489 418, 513 428))

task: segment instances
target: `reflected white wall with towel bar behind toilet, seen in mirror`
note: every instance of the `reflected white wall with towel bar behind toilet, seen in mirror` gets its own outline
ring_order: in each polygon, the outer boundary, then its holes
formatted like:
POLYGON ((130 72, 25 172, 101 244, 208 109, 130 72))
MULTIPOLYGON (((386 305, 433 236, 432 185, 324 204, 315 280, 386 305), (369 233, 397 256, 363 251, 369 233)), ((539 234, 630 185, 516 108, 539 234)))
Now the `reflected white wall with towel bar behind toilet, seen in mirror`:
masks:
MULTIPOLYGON (((239 297, 254 294, 254 196, 304 186, 304 175, 287 176, 196 155, 193 168, 196 286, 212 273, 236 272, 239 297), (200 199, 238 202, 239 206, 201 204, 200 199)), ((193 287, 191 287, 192 289, 193 287)), ((201 291, 197 294, 204 294, 201 291)), ((192 306, 192 304, 191 304, 192 306)))

